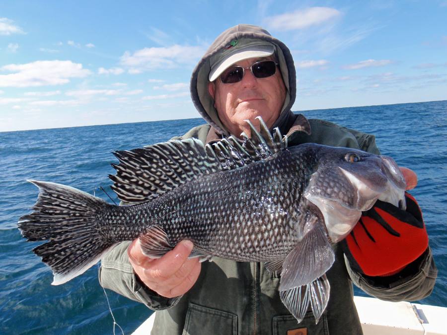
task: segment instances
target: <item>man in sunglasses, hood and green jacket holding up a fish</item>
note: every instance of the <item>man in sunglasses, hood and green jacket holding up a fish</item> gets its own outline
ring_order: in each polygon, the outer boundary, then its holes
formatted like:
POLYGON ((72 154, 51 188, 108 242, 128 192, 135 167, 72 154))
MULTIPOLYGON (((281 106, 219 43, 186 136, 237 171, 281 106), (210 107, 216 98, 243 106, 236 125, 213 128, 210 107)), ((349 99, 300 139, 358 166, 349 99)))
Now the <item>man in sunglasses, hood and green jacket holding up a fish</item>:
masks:
MULTIPOLYGON (((245 120, 257 125, 261 116, 270 129, 288 134, 289 145, 316 142, 379 153, 372 135, 308 122, 290 111, 296 97, 292 56, 256 26, 238 25, 216 39, 193 71, 191 96, 208 125, 181 138, 210 143, 223 135, 249 134, 245 120)), ((304 328, 307 334, 361 334, 351 281, 391 301, 421 299, 433 289, 437 269, 425 226, 412 198, 407 207, 402 211, 377 201, 334 246, 335 262, 327 272, 331 297, 316 325, 310 311, 298 325, 282 304, 279 273, 260 263, 188 260, 190 241, 156 260, 142 255, 138 239, 130 246, 122 243, 102 260, 100 281, 158 311, 152 334, 287 334, 304 328)))

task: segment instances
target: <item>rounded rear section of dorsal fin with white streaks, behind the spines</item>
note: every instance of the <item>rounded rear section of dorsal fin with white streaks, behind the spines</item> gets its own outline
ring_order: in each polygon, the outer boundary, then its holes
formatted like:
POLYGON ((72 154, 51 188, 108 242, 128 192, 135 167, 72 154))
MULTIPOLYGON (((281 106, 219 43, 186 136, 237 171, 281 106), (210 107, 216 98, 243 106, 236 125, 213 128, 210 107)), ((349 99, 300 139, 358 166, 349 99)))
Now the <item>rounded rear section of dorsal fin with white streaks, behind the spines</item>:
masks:
POLYGON ((116 151, 119 164, 109 178, 118 198, 128 203, 151 201, 187 181, 222 170, 196 138, 173 140, 130 151, 116 151))

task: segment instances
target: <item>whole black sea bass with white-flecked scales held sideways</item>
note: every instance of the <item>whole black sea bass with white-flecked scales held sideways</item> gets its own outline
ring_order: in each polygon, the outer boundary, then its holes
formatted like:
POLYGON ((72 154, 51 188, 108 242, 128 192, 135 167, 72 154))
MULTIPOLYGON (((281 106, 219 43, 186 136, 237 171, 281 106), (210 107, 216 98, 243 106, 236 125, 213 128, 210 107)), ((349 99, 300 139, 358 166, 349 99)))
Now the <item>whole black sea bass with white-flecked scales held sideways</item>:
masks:
POLYGON ((29 180, 39 188, 18 228, 63 284, 118 243, 140 239, 159 258, 181 240, 190 258, 264 262, 281 273, 279 294, 298 323, 309 305, 317 323, 330 294, 326 271, 335 243, 377 200, 405 208, 405 180, 388 156, 315 143, 288 146, 261 118, 250 136, 213 145, 195 138, 115 151, 109 175, 125 205, 70 186, 29 180))

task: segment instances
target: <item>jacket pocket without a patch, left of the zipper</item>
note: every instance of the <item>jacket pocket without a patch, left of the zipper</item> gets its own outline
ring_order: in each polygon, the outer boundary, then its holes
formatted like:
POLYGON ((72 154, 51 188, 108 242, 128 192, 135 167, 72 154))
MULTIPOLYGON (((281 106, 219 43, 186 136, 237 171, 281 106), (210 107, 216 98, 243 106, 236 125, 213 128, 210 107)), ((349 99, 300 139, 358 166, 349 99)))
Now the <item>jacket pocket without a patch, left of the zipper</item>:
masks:
POLYGON ((183 335, 237 335, 237 315, 189 303, 183 335))

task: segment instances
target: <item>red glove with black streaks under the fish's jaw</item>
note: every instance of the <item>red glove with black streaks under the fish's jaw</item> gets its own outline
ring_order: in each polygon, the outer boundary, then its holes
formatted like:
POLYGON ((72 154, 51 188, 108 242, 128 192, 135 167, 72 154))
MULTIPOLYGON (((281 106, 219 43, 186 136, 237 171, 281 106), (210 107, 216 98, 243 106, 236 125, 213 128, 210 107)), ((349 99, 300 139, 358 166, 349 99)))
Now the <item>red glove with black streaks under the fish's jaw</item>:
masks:
POLYGON ((388 276, 405 268, 428 247, 428 235, 416 200, 405 193, 407 209, 383 201, 363 212, 342 242, 351 267, 368 276, 388 276))

